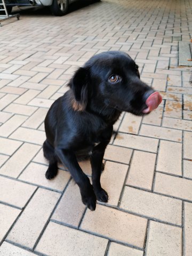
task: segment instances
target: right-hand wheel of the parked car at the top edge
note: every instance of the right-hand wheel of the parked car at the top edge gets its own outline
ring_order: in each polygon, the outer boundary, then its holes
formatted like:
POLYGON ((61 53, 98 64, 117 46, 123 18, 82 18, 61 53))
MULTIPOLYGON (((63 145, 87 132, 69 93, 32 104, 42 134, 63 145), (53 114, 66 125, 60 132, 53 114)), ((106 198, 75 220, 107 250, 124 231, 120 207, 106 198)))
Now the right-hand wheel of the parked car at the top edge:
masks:
POLYGON ((50 9, 55 16, 62 16, 66 14, 68 6, 69 0, 53 0, 50 9))

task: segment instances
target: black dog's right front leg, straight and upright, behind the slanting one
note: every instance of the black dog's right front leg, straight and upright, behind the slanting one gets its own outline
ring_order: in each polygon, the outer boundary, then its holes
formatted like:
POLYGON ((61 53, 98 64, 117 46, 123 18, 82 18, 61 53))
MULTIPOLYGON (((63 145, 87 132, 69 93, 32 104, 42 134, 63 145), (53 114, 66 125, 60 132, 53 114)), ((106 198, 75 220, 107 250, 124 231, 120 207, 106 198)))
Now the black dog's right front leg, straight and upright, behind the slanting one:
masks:
POLYGON ((94 193, 97 196, 98 201, 105 203, 108 201, 108 194, 104 189, 101 188, 100 177, 102 170, 102 160, 107 145, 108 141, 100 142, 99 145, 94 147, 91 154, 92 182, 94 193))

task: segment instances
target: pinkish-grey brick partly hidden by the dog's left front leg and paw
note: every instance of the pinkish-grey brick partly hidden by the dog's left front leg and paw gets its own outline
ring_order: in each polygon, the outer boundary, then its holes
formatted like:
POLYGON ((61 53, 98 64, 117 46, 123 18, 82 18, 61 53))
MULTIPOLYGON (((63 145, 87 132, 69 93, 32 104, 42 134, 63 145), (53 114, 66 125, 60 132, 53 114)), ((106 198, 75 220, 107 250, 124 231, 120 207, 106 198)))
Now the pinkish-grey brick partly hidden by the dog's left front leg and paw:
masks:
POLYGON ((52 219, 78 227, 85 205, 82 203, 78 186, 72 180, 63 194, 52 219))

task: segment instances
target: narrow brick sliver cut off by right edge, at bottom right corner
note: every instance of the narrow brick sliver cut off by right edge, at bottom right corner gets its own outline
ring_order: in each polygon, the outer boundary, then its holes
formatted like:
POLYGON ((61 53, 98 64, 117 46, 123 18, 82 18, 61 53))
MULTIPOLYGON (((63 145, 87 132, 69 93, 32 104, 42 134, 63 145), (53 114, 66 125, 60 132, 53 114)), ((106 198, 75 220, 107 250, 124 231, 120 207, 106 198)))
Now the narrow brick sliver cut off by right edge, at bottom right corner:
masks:
POLYGON ((190 255, 192 250, 192 204, 184 202, 184 255, 190 255))

